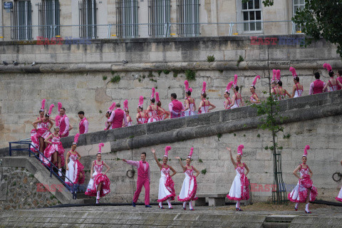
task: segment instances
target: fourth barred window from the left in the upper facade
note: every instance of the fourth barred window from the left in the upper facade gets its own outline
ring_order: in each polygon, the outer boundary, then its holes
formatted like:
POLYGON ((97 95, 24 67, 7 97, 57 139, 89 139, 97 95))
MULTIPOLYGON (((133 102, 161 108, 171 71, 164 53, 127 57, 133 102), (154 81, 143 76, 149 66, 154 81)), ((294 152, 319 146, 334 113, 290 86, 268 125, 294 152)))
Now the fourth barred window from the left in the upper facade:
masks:
POLYGON ((138 0, 116 0, 116 36, 138 36, 138 0))

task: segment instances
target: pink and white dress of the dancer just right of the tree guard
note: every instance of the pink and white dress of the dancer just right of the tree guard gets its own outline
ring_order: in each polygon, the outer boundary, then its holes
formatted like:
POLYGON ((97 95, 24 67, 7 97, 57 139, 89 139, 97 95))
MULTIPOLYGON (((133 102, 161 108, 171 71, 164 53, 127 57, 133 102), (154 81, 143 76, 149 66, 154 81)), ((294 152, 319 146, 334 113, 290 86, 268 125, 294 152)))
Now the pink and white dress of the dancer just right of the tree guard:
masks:
POLYGON ((318 195, 318 192, 317 188, 314 185, 312 185, 309 166, 306 165, 306 169, 301 167, 301 170, 299 170, 299 172, 301 173, 301 177, 303 177, 303 179, 300 179, 298 181, 297 186, 294 187, 294 190, 292 190, 289 193, 287 198, 291 202, 306 202, 306 197, 308 196, 308 189, 311 188, 309 201, 314 201, 318 195))

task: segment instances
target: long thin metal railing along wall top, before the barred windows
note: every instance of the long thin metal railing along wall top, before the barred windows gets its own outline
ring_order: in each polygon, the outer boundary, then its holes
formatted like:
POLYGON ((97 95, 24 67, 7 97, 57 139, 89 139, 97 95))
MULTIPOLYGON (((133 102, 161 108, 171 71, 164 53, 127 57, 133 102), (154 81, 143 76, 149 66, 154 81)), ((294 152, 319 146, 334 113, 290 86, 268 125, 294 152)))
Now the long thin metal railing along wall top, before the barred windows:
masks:
POLYGON ((245 24, 252 23, 250 21, 230 21, 220 23, 146 23, 146 24, 83 24, 83 25, 38 25, 38 26, 0 26, 0 41, 16 41, 16 40, 38 40, 41 31, 48 31, 48 34, 56 34, 58 36, 50 36, 43 38, 78 38, 78 39, 95 39, 95 38, 150 38, 150 37, 184 37, 184 36, 272 36, 272 35, 289 35, 301 33, 296 31, 299 26, 293 21, 258 21, 261 23, 259 31, 245 31, 248 26, 245 24), (196 27, 198 29, 182 29, 187 27, 196 27), (93 28, 91 36, 80 33, 80 28, 93 28), (28 29, 31 31, 30 38, 21 38, 11 36, 11 31, 18 29, 28 29), (123 28, 136 28, 136 33, 123 33, 123 28), (158 28, 157 33, 151 32, 151 28, 158 28), (95 35, 94 35, 95 34, 95 35))

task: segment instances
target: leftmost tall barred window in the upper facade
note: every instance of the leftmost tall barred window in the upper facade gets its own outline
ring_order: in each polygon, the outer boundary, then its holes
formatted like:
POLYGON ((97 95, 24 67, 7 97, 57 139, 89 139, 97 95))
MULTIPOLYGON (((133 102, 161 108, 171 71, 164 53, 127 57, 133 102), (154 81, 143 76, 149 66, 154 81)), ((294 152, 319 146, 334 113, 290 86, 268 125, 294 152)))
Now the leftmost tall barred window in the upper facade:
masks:
POLYGON ((32 39, 31 1, 14 1, 11 10, 11 38, 15 40, 32 39))

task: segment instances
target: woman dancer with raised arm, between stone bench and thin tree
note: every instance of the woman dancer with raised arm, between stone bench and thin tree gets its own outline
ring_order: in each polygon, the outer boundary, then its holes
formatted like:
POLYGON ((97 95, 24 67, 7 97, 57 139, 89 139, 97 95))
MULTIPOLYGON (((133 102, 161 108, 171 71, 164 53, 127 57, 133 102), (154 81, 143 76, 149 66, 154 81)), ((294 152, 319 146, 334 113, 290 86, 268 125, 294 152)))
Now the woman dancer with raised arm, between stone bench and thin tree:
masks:
POLYGON ((240 208, 240 200, 249 199, 249 181, 247 178, 249 168, 246 164, 241 163, 243 155, 242 149, 244 149, 244 145, 239 145, 239 147, 237 147, 237 162, 235 162, 232 155, 232 150, 227 147, 230 155, 230 160, 232 160, 235 171, 237 172, 237 175, 233 180, 232 187, 230 187, 227 197, 230 200, 237 201, 237 204, 235 206, 235 209, 237 211, 242 211, 242 209, 240 208), (244 173, 244 170, 246 170, 246 173, 244 173))

